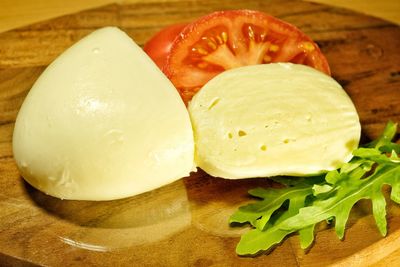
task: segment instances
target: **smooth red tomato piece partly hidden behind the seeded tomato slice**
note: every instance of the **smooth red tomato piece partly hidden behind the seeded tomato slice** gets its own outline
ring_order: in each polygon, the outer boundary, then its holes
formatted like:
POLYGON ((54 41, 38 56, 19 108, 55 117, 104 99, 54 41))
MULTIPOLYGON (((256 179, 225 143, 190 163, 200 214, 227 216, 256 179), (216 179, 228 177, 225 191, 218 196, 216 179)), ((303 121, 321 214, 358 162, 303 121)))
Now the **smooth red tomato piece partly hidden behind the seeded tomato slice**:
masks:
POLYGON ((187 23, 179 23, 168 26, 157 32, 143 47, 143 50, 162 70, 170 54, 172 43, 187 23))

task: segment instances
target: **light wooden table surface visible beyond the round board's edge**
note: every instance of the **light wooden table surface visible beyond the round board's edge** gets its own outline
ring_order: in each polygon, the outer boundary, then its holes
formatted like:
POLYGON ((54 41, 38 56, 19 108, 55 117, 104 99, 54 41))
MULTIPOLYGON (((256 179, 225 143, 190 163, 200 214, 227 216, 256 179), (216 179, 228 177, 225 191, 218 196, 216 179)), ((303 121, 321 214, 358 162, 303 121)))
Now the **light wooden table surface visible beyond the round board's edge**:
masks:
MULTIPOLYGON (((119 3, 151 2, 154 0, 123 0, 119 3)), ((164 0, 166 2, 179 2, 180 0, 164 0)), ((358 12, 383 18, 400 24, 399 0, 311 0, 328 5, 346 7, 358 12)), ((35 22, 72 14, 81 10, 103 6, 113 3, 113 0, 0 0, 0 33, 35 22)), ((159 2, 159 1, 158 1, 159 2)), ((380 251, 377 248, 377 251, 380 251)), ((379 252, 377 252, 379 253, 379 252)), ((396 266, 400 263, 400 250, 389 254, 375 266, 396 266)), ((0 265, 3 264, 0 262, 0 265)))

